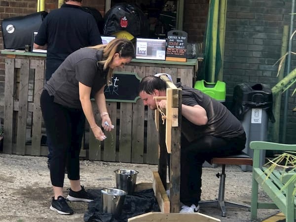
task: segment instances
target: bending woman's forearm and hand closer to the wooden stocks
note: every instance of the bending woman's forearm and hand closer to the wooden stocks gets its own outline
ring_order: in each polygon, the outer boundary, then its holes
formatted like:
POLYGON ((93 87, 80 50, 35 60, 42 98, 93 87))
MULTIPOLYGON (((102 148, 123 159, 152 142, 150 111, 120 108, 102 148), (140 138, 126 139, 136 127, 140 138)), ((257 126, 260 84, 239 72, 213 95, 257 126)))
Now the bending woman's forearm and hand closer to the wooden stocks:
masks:
POLYGON ((114 126, 112 125, 109 113, 107 111, 104 89, 105 85, 102 87, 102 89, 100 89, 100 91, 96 93, 95 101, 102 118, 102 126, 106 131, 111 131, 114 126))

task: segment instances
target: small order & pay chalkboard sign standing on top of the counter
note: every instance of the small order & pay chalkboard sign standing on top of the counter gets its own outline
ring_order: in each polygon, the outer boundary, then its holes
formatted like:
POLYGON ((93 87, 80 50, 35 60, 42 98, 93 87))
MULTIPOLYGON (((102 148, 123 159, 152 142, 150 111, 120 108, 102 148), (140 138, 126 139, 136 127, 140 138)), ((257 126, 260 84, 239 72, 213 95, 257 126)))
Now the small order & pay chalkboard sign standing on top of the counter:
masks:
POLYGON ((168 32, 166 60, 186 62, 187 33, 181 30, 168 32))

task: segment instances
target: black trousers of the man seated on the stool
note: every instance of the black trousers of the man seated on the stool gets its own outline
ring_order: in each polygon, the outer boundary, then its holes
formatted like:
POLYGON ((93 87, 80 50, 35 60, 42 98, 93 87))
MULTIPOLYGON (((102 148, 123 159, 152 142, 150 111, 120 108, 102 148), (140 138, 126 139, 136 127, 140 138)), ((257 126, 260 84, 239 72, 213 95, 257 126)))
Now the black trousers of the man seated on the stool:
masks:
POLYGON ((246 134, 231 139, 205 136, 191 143, 181 142, 180 200, 198 204, 201 195, 202 164, 213 157, 239 153, 245 148, 246 134))

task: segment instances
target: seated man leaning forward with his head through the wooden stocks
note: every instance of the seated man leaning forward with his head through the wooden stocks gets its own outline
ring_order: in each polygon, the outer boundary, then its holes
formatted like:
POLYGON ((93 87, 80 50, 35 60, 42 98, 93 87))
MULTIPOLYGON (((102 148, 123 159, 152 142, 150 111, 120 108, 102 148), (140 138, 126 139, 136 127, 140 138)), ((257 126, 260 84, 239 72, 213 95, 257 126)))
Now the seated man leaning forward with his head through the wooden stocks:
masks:
MULTIPOLYGON (((181 83, 176 86, 182 89, 180 213, 193 213, 199 210, 204 161, 239 153, 245 148, 246 134, 240 121, 220 102, 181 83)), ((153 97, 166 96, 166 83, 146 76, 139 95, 145 106, 155 110, 153 97)), ((166 109, 166 100, 157 103, 166 109)))

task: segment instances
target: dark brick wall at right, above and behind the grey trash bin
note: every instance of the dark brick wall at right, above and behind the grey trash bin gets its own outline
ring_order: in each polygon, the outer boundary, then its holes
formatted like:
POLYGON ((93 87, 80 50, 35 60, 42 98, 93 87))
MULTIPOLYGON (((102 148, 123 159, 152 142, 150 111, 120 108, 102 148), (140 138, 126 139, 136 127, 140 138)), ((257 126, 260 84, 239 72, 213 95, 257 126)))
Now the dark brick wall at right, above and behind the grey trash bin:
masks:
MULTIPOLYGON (((283 26, 290 25, 291 4, 290 0, 228 0, 223 80, 231 100, 238 83, 270 87, 277 83, 278 65, 273 65, 280 58, 283 26)), ((295 65, 293 61, 291 70, 295 65)), ((290 93, 286 142, 294 144, 295 106, 290 93)))

